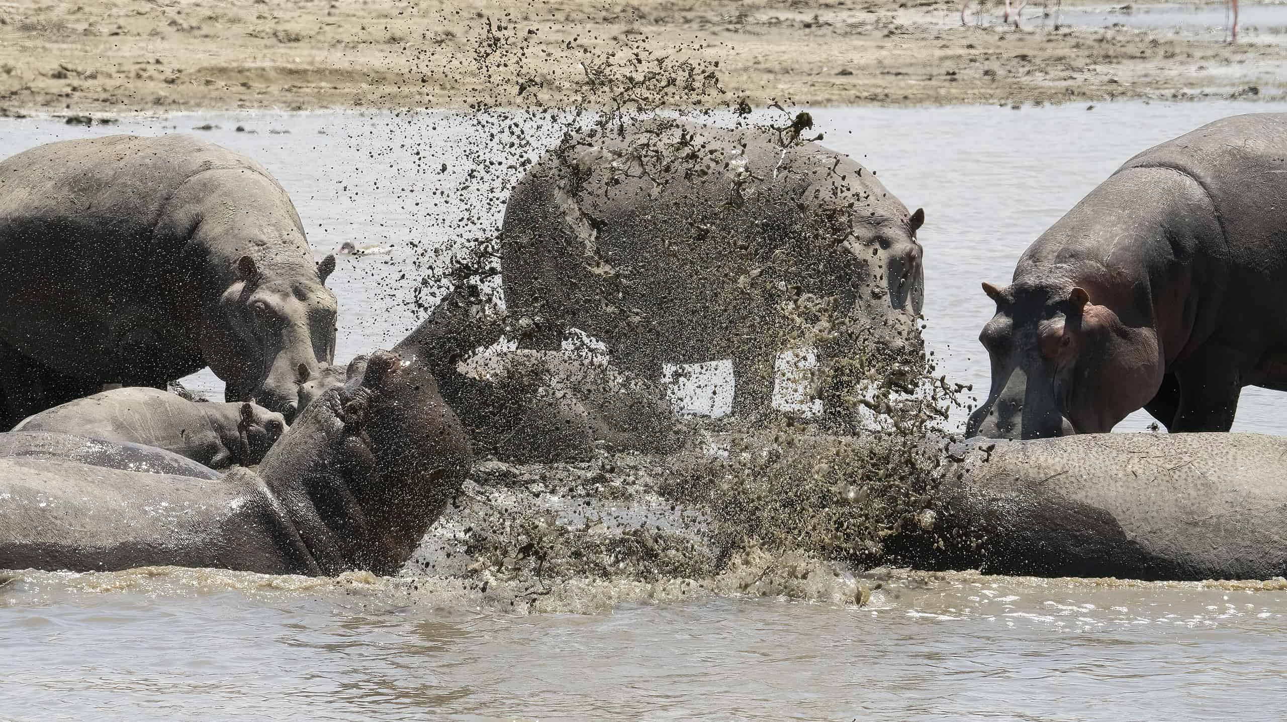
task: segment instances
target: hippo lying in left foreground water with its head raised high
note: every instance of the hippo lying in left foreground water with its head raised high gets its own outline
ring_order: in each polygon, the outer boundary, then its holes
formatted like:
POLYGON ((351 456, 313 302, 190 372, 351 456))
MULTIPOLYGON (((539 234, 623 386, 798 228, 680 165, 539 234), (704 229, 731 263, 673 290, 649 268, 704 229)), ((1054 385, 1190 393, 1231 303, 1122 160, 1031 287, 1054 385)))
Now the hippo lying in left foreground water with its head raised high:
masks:
POLYGON ((423 366, 376 352, 360 378, 308 406, 257 473, 205 479, 0 457, 0 568, 393 574, 468 462, 423 366))

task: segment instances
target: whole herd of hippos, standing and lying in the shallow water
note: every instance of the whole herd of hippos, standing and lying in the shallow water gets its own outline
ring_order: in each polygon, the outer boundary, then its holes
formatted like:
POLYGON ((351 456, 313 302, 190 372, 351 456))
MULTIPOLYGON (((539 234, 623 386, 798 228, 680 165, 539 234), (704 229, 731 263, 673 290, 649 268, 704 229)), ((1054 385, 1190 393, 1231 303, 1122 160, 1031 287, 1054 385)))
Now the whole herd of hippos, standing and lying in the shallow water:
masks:
MULTIPOLYGON (((335 257, 261 166, 183 135, 19 153, 0 162, 0 568, 394 574, 476 455, 676 448, 663 364, 732 358, 734 415, 761 419, 802 339, 824 366, 919 349, 924 222, 798 132, 565 137, 506 207, 505 324, 457 288, 336 364, 335 257), (534 355, 570 329, 610 365, 534 355), (466 369, 511 333, 519 352, 466 369), (205 366, 224 402, 166 391, 205 366)), ((1140 153, 983 290, 992 384, 967 436, 997 441, 941 445, 937 541, 891 540, 898 559, 1287 574, 1287 442, 1106 433, 1138 409, 1228 432, 1243 385, 1287 389, 1287 114, 1140 153)))

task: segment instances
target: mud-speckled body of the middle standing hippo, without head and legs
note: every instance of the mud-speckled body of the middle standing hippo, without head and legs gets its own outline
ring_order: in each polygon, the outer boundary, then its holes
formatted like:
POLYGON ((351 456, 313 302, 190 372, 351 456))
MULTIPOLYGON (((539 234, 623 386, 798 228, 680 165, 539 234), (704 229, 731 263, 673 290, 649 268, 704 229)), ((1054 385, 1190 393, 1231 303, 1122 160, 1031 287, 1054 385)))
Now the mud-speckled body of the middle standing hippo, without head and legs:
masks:
POLYGON ((907 218, 839 153, 784 149, 758 128, 641 122, 560 146, 519 182, 502 227, 506 303, 674 361, 781 346, 770 337, 795 326, 782 307, 798 293, 856 295, 862 316, 888 316, 853 293, 883 283, 880 263, 839 244, 860 215, 907 218))

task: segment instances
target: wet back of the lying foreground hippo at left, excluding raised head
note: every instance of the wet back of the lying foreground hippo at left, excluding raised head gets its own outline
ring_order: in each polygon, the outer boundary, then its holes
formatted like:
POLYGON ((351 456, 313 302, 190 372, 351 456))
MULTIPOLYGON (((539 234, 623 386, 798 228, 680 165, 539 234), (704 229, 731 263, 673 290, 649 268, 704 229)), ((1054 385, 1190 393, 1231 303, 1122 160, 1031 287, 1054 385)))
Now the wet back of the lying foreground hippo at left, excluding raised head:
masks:
POLYGON ((263 479, 0 457, 0 569, 317 573, 263 479))

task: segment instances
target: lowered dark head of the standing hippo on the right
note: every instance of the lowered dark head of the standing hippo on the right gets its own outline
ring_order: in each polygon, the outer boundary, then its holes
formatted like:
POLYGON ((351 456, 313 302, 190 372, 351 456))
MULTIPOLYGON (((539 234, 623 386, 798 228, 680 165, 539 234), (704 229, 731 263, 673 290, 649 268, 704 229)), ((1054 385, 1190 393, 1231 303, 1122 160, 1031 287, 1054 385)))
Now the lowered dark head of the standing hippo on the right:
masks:
POLYGON ((1005 289, 985 283, 983 290, 996 302, 996 315, 979 333, 992 388, 970 415, 967 436, 1109 432, 1161 387, 1156 331, 1094 303, 1098 290, 1048 281, 1005 289))

